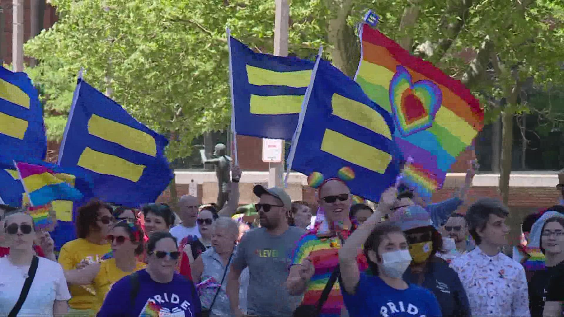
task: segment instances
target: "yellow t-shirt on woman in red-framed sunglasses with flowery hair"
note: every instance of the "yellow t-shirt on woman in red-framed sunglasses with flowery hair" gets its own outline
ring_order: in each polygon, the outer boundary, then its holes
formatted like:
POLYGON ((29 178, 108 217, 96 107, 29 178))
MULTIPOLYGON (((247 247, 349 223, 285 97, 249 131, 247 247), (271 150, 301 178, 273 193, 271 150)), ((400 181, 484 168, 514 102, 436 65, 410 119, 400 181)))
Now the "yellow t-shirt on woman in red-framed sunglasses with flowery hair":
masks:
MULTIPOLYGON (((143 270, 147 265, 143 262, 137 262, 133 272, 143 270)), ((92 310, 96 313, 102 307, 102 303, 104 302, 104 298, 106 294, 109 292, 109 289, 112 288, 113 283, 116 283, 121 278, 124 278, 127 275, 130 275, 133 272, 124 272, 120 270, 116 266, 116 259, 111 258, 107 259, 106 261, 102 262, 100 266, 100 272, 96 275, 94 282, 92 285, 96 290, 96 302, 92 305, 92 310)))

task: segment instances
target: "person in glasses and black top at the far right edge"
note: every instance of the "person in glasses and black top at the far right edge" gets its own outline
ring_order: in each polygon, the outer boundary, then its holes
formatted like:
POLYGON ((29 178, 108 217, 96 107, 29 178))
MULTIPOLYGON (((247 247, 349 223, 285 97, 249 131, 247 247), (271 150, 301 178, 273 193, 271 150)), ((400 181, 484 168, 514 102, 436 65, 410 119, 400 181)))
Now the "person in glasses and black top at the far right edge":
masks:
MULTIPOLYGON (((543 316, 549 285, 558 274, 564 273, 564 215, 554 210, 545 212, 531 228, 531 246, 544 254, 545 268, 537 270, 529 282, 531 316, 543 316), (538 242, 538 244, 537 244, 538 242)), ((558 285, 562 287, 562 285, 558 285)))

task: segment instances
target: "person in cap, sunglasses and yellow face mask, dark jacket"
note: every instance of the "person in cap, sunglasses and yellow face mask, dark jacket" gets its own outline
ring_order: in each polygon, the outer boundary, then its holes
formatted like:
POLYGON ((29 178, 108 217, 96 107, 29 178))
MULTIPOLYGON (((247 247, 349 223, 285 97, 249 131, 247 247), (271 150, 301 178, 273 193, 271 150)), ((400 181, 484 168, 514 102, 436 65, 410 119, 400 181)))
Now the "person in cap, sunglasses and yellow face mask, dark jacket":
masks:
POLYGON ((413 261, 403 274, 406 283, 429 289, 439 302, 443 316, 470 316, 470 304, 458 274, 438 257, 443 240, 421 206, 411 206, 391 215, 406 235, 413 261))

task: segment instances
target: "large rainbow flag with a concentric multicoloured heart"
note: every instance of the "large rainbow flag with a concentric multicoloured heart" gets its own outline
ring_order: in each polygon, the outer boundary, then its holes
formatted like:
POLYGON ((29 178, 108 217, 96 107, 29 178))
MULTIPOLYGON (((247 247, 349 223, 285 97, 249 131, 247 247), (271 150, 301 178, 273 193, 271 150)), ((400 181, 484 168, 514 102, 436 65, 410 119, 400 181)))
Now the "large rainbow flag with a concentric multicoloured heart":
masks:
POLYGON ((355 81, 394 118, 404 158, 402 181, 422 197, 442 187, 447 171, 483 127, 484 111, 468 89, 428 61, 412 56, 367 24, 355 81))

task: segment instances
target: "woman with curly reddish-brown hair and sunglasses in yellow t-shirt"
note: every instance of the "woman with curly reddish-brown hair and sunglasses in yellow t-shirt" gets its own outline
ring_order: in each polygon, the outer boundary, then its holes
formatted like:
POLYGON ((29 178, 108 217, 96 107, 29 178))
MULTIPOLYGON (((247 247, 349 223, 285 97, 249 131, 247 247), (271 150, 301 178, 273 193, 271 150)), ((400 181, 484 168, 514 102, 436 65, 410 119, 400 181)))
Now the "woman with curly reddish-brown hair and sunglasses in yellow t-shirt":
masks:
POLYGON ((112 207, 100 200, 91 200, 78 208, 76 229, 78 239, 65 243, 59 254, 59 263, 65 271, 72 299, 69 301, 73 316, 92 316, 96 293, 92 281, 98 275, 104 254, 111 251, 106 240, 113 226, 112 207))

